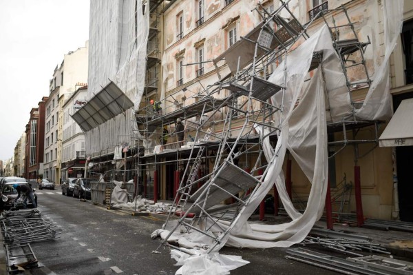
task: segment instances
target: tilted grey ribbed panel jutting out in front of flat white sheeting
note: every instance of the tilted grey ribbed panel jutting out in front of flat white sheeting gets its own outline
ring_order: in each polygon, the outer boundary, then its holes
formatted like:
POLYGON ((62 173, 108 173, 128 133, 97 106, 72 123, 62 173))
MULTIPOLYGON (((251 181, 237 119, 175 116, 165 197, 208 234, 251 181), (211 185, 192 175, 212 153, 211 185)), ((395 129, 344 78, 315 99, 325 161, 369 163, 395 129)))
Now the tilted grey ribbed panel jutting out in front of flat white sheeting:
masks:
POLYGON ((110 81, 81 109, 74 113, 72 119, 81 126, 83 131, 87 132, 133 106, 134 103, 126 94, 110 81))

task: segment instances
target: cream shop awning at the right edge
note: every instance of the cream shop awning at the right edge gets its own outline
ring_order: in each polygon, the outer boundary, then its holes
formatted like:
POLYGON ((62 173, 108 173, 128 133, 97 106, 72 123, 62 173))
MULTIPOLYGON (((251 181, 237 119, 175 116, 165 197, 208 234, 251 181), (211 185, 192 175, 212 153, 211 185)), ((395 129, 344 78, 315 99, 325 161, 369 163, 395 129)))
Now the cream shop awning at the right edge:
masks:
POLYGON ((413 145, 413 99, 401 101, 379 137, 380 147, 413 145))

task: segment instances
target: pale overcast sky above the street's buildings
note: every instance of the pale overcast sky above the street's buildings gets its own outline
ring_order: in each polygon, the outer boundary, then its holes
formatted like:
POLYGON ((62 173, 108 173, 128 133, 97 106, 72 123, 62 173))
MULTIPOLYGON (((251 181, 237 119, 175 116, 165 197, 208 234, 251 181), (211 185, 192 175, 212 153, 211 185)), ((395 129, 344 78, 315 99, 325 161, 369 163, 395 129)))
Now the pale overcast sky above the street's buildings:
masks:
POLYGON ((56 65, 88 37, 89 0, 0 0, 0 160, 49 95, 56 65))

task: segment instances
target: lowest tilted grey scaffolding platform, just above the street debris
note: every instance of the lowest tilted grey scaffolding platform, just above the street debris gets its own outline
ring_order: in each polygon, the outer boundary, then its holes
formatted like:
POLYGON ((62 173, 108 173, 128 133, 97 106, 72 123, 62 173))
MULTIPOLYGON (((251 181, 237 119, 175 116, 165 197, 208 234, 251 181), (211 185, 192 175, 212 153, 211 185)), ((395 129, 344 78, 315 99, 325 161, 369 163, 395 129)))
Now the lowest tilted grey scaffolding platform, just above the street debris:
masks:
MULTIPOLYGON (((239 192, 246 191, 248 188, 253 187, 259 181, 255 179, 251 174, 248 174, 240 167, 237 167, 233 163, 224 162, 220 167, 220 170, 214 176, 210 183, 202 185, 195 193, 192 194, 191 199, 197 200, 202 195, 202 192, 206 188, 210 188, 209 196, 207 198, 201 198, 198 205, 204 205, 204 210, 208 210, 214 205, 218 205, 226 198, 231 198, 230 194, 238 194, 239 192), (224 190, 222 190, 222 189, 224 190)), ((194 212, 199 212, 200 208, 194 207, 194 212)))

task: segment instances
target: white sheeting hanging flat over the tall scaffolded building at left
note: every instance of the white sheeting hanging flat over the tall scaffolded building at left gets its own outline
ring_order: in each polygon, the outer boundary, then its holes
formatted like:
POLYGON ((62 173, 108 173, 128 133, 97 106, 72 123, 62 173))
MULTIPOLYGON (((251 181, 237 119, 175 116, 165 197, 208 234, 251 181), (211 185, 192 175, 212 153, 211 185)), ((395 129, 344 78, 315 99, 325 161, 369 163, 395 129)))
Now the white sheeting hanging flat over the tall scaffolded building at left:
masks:
POLYGON ((85 132, 87 155, 131 144, 138 133, 134 111, 145 88, 149 5, 142 0, 104 0, 90 3, 88 98, 109 83, 109 79, 134 102, 134 108, 85 132), (144 14, 145 13, 145 14, 144 14))

